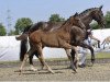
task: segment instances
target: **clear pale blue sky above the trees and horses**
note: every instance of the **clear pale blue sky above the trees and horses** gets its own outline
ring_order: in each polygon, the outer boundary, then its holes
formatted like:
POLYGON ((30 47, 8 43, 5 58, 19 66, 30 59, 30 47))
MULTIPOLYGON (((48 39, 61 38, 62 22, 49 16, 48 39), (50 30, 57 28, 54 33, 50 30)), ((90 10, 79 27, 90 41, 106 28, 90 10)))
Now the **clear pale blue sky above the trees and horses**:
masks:
POLYGON ((68 19, 75 12, 100 5, 103 5, 105 14, 110 11, 110 0, 0 0, 0 23, 8 27, 8 10, 13 28, 20 17, 30 17, 33 23, 37 23, 48 21, 51 14, 57 13, 68 19))

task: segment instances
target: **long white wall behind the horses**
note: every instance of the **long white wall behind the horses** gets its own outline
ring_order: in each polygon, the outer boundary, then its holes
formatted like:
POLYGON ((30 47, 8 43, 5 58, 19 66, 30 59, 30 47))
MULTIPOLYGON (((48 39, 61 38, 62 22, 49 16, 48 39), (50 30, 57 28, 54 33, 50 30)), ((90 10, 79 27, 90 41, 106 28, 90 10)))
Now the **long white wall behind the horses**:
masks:
MULTIPOLYGON (((95 30, 94 36, 98 37, 101 42, 110 36, 110 28, 95 30)), ((67 57, 64 49, 61 48, 47 48, 43 49, 45 58, 62 58, 67 57)), ((0 61, 19 60, 20 42, 15 39, 15 36, 0 36, 0 61)))

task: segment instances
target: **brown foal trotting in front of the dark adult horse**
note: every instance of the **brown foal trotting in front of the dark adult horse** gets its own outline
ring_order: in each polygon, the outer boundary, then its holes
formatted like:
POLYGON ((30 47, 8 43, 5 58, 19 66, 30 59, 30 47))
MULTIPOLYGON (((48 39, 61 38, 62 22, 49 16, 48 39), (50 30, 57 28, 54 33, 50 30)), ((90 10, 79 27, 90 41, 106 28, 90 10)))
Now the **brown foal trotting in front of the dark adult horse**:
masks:
MULTIPOLYGON (((75 15, 70 16, 56 31, 45 32, 43 30, 38 30, 38 31, 35 31, 35 32, 31 33, 29 35, 31 48, 25 54, 24 60, 22 62, 22 66, 21 66, 20 70, 22 71, 22 68, 23 68, 25 61, 28 60, 28 58, 34 51, 37 51, 38 59, 42 62, 42 66, 43 67, 46 66, 47 70, 50 72, 54 73, 52 71, 52 69, 48 67, 48 65, 45 62, 45 60, 44 60, 43 52, 42 52, 42 49, 44 47, 64 48, 66 50, 66 52, 67 52, 68 58, 73 62, 73 60, 70 58, 70 55, 68 52, 68 49, 75 49, 76 55, 77 55, 77 50, 76 50, 76 47, 72 46, 70 44, 74 44, 76 42, 78 42, 77 44, 79 44, 85 38, 84 31, 80 27, 74 26, 76 24, 80 25, 81 27, 82 26, 85 27, 84 23, 81 23, 81 21, 79 20, 78 15, 75 14, 75 15)), ((73 66, 73 70, 76 72, 75 66, 73 66)))

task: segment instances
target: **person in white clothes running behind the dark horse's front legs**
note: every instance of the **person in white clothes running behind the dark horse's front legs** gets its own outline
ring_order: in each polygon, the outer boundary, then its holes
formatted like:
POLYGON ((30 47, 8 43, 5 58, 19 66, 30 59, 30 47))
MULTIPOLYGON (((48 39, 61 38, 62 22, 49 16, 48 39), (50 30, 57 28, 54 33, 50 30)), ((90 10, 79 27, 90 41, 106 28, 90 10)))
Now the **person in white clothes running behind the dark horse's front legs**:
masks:
MULTIPOLYGON (((86 39, 84 42, 87 45, 90 45, 90 39, 95 39, 98 43, 100 43, 100 40, 92 35, 91 30, 88 30, 87 34, 86 34, 86 39)), ((82 48, 82 47, 78 47, 78 50, 79 50, 78 67, 84 68, 84 67, 86 67, 86 57, 87 57, 87 54, 88 54, 88 49, 87 48, 82 48)))

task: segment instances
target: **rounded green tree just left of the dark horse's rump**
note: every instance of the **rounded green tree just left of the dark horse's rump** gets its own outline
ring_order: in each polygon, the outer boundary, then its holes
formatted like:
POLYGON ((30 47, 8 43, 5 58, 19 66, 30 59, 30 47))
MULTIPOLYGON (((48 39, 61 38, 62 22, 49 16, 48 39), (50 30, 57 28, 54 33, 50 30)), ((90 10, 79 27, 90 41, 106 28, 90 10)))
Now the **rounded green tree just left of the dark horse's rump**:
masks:
POLYGON ((21 32, 23 32, 23 30, 25 27, 28 27, 29 25, 32 25, 32 24, 33 24, 33 22, 29 17, 21 17, 21 19, 19 19, 16 21, 16 23, 15 23, 15 26, 14 26, 15 27, 15 34, 20 34, 21 32))

